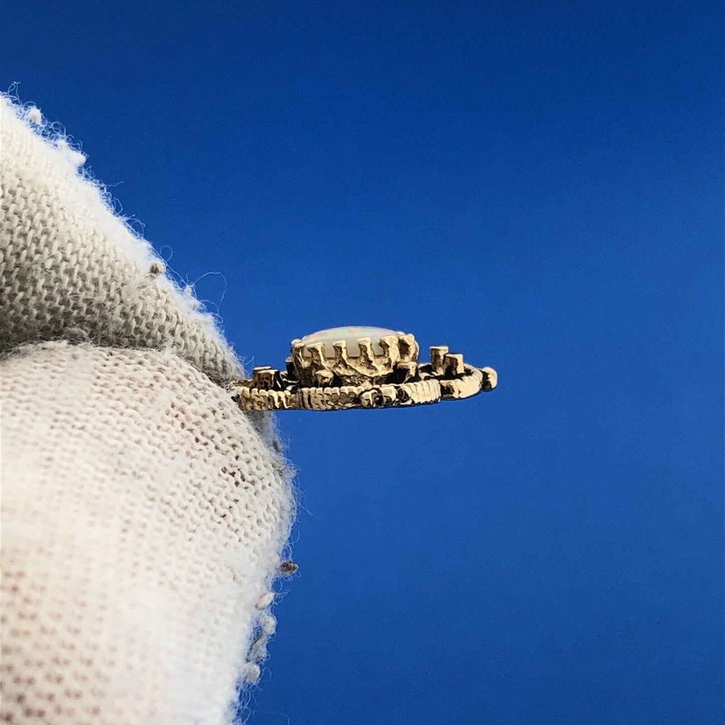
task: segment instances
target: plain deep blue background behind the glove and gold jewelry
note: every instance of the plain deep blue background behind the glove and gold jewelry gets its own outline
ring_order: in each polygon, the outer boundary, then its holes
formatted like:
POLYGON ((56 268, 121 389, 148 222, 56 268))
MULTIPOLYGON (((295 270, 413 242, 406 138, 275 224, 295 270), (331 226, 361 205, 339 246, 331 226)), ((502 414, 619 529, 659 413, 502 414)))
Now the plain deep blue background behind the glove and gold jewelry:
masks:
POLYGON ((373 324, 499 371, 279 416, 252 725, 722 723, 719 6, 4 8, 7 85, 247 363, 373 324))

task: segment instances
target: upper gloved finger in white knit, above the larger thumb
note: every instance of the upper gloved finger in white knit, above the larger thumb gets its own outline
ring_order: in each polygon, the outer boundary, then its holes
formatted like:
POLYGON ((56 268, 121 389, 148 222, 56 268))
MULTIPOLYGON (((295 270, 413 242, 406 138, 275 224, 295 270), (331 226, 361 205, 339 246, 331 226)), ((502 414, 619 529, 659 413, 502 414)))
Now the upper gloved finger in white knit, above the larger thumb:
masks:
POLYGON ((87 339, 165 347, 218 382, 239 375, 212 318, 195 310, 152 247, 83 178, 83 155, 62 137, 34 133, 32 117, 0 97, 0 352, 87 339))

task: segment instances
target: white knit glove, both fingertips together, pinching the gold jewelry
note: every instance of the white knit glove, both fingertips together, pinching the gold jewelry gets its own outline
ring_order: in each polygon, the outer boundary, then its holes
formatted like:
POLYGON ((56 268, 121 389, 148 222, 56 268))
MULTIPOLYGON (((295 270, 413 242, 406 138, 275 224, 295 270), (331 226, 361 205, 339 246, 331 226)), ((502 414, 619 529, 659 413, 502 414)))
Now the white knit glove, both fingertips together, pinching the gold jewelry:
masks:
POLYGON ((213 324, 33 120, 0 103, 1 719, 228 723, 286 466, 213 324))

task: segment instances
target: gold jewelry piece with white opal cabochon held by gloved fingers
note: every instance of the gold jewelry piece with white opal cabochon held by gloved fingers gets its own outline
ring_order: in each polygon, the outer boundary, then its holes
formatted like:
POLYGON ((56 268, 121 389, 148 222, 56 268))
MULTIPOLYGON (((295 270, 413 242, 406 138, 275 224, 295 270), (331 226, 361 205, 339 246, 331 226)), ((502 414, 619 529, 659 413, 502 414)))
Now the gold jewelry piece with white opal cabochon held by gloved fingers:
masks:
POLYGON ((496 387, 496 370, 468 365, 444 345, 431 347, 429 363, 418 363, 419 352, 410 334, 335 328, 293 340, 286 370, 253 368, 252 378, 230 388, 243 410, 344 410, 455 400, 496 387))

